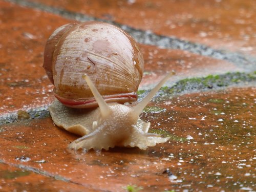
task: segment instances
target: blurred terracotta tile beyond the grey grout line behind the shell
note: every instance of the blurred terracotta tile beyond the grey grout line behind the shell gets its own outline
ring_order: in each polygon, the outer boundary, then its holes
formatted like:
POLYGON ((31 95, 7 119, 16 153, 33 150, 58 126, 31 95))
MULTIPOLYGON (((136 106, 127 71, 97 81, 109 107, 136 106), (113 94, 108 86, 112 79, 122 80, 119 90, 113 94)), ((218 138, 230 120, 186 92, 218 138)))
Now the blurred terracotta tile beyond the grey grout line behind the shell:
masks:
POLYGON ((256 3, 253 0, 36 2, 218 49, 256 54, 256 27, 253 25, 256 3))

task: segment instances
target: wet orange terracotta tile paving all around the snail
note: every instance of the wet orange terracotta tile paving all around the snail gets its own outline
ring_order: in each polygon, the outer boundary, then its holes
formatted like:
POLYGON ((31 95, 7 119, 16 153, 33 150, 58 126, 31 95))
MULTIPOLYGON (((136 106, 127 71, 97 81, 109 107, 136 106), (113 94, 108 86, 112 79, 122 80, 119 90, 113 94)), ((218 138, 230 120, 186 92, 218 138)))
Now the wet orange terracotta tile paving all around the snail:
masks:
MULTIPOLYGON (((33 1, 71 12, 28 8, 28 4, 17 5, 25 0, 10 1, 15 4, 0 1, 0 191, 129 191, 135 185, 139 191, 255 190, 255 81, 250 84, 254 87, 202 89, 174 98, 172 90, 161 96, 162 91, 141 118, 152 123, 152 133, 170 136, 167 143, 146 151, 115 147, 82 153, 68 150, 77 136, 56 127, 44 108, 54 97, 53 86, 41 68, 49 35, 74 22, 64 17, 84 13, 227 49, 214 50, 216 56, 205 53, 211 50, 203 50, 200 44, 191 43, 189 49, 180 48, 183 50, 141 44, 145 60, 141 89, 151 89, 170 70, 177 73, 169 80, 172 83, 214 74, 227 76, 228 72, 248 73, 253 58, 232 53, 236 61, 225 58, 225 52, 256 54, 254 1, 33 1), (208 57, 198 55, 201 51, 208 57), (35 109, 44 115, 38 118, 35 114, 31 119, 25 111, 35 109), (7 113, 16 113, 17 122, 1 122, 7 113)), ((148 38, 146 31, 140 34, 148 38)), ((253 79, 253 74, 255 79, 255 72, 249 76, 253 79)))

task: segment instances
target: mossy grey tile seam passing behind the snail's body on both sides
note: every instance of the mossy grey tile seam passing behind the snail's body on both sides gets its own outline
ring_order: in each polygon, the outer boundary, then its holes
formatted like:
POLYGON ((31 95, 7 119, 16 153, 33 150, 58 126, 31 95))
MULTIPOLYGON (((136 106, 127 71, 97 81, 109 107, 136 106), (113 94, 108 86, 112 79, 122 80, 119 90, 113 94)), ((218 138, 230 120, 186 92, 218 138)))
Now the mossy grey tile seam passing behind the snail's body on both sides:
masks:
MULTIPOLYGON (((256 71, 252 73, 233 72, 221 75, 208 75, 205 77, 184 78, 166 85, 167 88, 162 87, 155 98, 164 98, 166 94, 170 97, 174 97, 183 94, 217 91, 232 87, 255 87, 256 71)), ((151 89, 144 90, 142 94, 139 94, 138 100, 144 97, 150 90, 151 89)), ((29 113, 31 117, 30 119, 44 118, 50 116, 47 108, 48 106, 45 105, 39 108, 30 109, 26 112, 29 113)), ((17 112, 0 115, 0 125, 22 120, 26 119, 18 119, 17 112)))

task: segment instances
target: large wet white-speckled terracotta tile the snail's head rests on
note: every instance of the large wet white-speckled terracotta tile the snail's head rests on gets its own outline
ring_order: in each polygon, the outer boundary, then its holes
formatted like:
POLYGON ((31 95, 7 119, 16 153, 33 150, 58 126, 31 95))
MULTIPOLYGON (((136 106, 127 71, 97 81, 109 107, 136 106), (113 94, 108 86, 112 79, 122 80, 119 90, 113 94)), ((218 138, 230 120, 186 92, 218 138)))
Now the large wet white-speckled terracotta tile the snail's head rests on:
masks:
POLYGON ((165 110, 141 118, 151 121, 151 131, 172 139, 146 151, 69 151, 77 136, 50 118, 2 125, 0 159, 102 190, 121 191, 129 184, 142 191, 253 190, 255 95, 255 88, 233 88, 150 103, 165 110))

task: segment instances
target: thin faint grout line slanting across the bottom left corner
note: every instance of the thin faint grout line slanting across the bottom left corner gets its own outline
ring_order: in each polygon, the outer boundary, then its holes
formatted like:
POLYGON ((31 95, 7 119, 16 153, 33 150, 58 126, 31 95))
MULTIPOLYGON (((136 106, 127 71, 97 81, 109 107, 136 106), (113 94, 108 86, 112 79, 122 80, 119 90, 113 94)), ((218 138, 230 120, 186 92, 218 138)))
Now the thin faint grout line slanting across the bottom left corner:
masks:
MULTIPOLYGON (((39 174, 39 175, 43 175, 43 176, 46 176, 46 177, 54 178, 56 180, 60 180, 60 181, 64 181, 64 182, 67 182, 67 183, 72 183, 72 184, 81 185, 81 186, 84 186, 84 187, 95 189, 92 185, 81 184, 81 183, 78 183, 78 182, 74 182, 71 179, 67 179, 65 177, 58 176, 58 175, 53 175, 53 174, 51 174, 49 172, 46 172, 45 170, 41 170, 39 168, 34 168, 34 167, 31 167, 31 166, 28 166, 28 165, 23 165, 23 164, 7 163, 2 159, 0 159, 0 163, 5 164, 5 165, 9 165, 9 166, 13 166, 13 167, 17 167, 17 168, 20 168, 20 169, 24 169, 24 170, 27 170, 29 172, 35 173, 35 174, 39 174)), ((104 191, 104 190, 101 190, 101 189, 97 189, 97 190, 104 191)))

